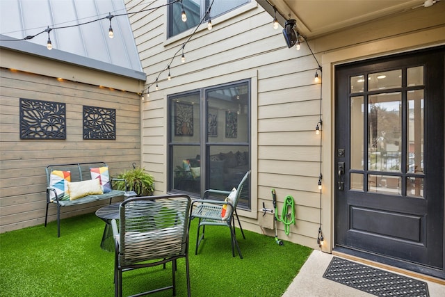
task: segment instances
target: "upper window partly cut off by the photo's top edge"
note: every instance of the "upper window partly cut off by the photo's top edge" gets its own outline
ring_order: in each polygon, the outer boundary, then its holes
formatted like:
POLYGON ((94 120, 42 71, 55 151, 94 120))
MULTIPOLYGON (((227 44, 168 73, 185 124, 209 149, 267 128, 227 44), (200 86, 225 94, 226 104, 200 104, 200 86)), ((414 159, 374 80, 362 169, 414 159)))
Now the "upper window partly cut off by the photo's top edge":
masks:
MULTIPOLYGON (((175 0, 169 0, 173 2, 175 0)), ((168 6, 168 38, 175 36, 179 33, 191 29, 197 24, 200 24, 200 20, 204 17, 207 9, 211 5, 210 17, 218 17, 230 10, 234 10, 245 3, 249 3, 250 0, 182 0, 168 6), (213 4, 212 4, 213 2, 213 4), (181 13, 184 8, 187 20, 183 22, 181 13)))

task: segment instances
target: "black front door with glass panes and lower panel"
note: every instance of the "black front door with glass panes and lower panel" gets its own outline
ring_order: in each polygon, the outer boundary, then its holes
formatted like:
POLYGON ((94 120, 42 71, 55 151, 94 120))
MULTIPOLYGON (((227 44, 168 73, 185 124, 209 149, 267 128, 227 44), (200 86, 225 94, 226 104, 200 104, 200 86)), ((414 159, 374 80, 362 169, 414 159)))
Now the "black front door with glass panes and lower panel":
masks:
POLYGON ((335 246, 444 273, 444 54, 335 68, 335 246))

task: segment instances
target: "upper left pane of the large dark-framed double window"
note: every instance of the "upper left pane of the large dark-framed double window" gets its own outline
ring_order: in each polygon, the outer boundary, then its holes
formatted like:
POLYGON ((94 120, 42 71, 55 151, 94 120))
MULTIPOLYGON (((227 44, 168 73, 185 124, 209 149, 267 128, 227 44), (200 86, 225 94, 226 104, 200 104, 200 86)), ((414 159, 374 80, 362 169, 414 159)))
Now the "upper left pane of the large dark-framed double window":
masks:
POLYGON ((170 103, 172 143, 200 143, 200 94, 174 97, 170 103))

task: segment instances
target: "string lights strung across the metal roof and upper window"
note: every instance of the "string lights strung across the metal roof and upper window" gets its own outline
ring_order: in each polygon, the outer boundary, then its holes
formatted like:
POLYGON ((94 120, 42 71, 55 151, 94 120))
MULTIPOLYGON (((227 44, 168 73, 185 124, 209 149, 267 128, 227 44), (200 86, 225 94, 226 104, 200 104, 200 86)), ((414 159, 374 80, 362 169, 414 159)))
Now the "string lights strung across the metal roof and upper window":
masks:
MULTIPOLYGON (((69 25, 69 26, 53 26, 53 27, 47 26, 47 29, 44 29, 43 31, 40 31, 39 33, 34 34, 34 35, 26 35, 24 38, 21 38, 21 39, 6 39, 6 40, 0 40, 0 41, 31 40, 31 39, 35 38, 36 36, 38 36, 38 35, 40 35, 42 33, 48 33, 47 49, 51 50, 53 48, 53 45, 52 45, 52 42, 51 42, 51 36, 50 36, 51 31, 60 30, 60 29, 67 29, 67 28, 72 28, 72 27, 76 27, 76 26, 83 26, 83 25, 86 25, 86 24, 91 24, 93 22, 99 22, 99 21, 102 21, 104 19, 108 19, 108 21, 110 22, 110 26, 108 28, 108 37, 109 38, 114 38, 113 26, 111 24, 111 20, 113 19, 113 17, 121 17, 121 16, 124 16, 124 15, 135 15, 136 13, 144 13, 144 12, 147 12, 149 10, 156 10, 156 9, 159 9, 159 8, 163 8, 165 6, 170 6, 170 5, 173 5, 173 4, 177 3, 177 2, 181 3, 181 20, 182 20, 182 22, 186 22, 187 21, 187 15, 186 15, 186 10, 184 9, 184 4, 182 3, 182 1, 183 0, 175 0, 175 1, 171 1, 171 2, 168 1, 167 3, 162 4, 160 6, 147 8, 147 9, 143 9, 143 10, 138 10, 136 12, 131 12, 131 13, 120 13, 120 14, 115 14, 115 15, 112 15, 111 13, 108 13, 108 15, 106 15, 105 17, 99 17, 98 19, 93 19, 91 21, 83 22, 83 23, 80 23, 80 24, 74 24, 74 25, 69 25)), ((181 54, 181 63, 185 63, 186 57, 185 57, 185 54, 184 54, 184 49, 185 49, 187 43, 193 38, 193 35, 195 35, 195 33, 196 33, 197 29, 199 28, 199 26, 204 22, 204 20, 207 17, 208 17, 207 29, 211 30, 213 28, 213 25, 211 24, 210 10, 211 10, 211 6, 213 6, 213 2, 214 1, 215 0, 211 1, 211 4, 210 4, 209 8, 207 9, 206 13, 204 13, 204 16, 200 20, 199 24, 197 24, 197 26, 195 26, 195 30, 191 33, 191 35, 188 37, 188 39, 181 45, 181 47, 176 51, 176 53, 170 59, 170 62, 168 63, 168 65, 163 70, 161 70, 161 72, 159 72, 159 74, 156 76, 156 79, 154 81, 152 81, 151 83, 148 83, 147 87, 144 88, 141 91, 142 99, 144 99, 144 95, 147 95, 147 97, 149 97, 149 88, 151 86, 153 86, 155 83, 156 83, 156 90, 159 90, 159 83, 158 83, 159 77, 161 77, 161 74, 163 72, 165 72, 166 70, 168 70, 168 77, 167 77, 167 79, 170 81, 170 79, 172 78, 171 74, 170 74, 170 66, 172 65, 172 62, 175 60, 177 54, 179 54, 180 51, 182 52, 182 54, 181 54)))

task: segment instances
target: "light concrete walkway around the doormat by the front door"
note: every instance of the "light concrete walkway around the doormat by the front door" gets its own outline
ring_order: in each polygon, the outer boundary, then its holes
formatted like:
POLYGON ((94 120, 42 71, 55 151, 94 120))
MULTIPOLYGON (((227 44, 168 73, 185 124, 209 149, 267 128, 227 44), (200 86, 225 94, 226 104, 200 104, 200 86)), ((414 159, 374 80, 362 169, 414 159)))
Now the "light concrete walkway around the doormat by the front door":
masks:
MULTIPOLYGON (((314 250, 307 259, 307 262, 302 266, 300 273, 293 280, 289 288, 284 292, 283 297, 359 297, 359 296, 374 296, 357 289, 353 289, 344 284, 339 284, 332 280, 323 278, 323 274, 329 266, 332 257, 331 254, 314 250)), ((340 257, 336 255, 335 257, 340 257)), ((376 267, 382 269, 380 267, 376 267)), ((391 271, 395 273, 394 271, 391 271)), ((411 275, 407 275, 413 278, 411 275)), ((421 280, 421 279, 420 279, 421 280)), ((428 292, 430 297, 444 297, 445 284, 438 284, 437 282, 430 282, 423 280, 428 284, 428 292)), ((445 283, 445 282, 443 282, 445 283)))

